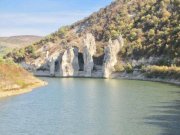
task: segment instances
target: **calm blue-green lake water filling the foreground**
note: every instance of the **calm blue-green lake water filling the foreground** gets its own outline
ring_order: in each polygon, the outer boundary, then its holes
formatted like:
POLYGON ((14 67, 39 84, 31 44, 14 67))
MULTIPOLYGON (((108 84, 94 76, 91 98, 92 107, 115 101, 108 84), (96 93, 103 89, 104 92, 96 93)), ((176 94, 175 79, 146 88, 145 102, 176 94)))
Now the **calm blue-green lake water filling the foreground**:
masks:
POLYGON ((42 78, 49 85, 0 99, 0 135, 180 135, 180 87, 42 78))

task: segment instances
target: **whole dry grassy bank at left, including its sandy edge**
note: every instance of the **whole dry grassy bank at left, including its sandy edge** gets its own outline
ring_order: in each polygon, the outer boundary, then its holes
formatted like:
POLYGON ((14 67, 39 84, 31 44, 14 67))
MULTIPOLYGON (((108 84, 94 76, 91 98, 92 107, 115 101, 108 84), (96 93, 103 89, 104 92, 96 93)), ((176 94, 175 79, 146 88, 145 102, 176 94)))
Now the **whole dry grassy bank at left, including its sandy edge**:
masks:
POLYGON ((21 94, 44 82, 10 60, 0 59, 0 97, 21 94))

